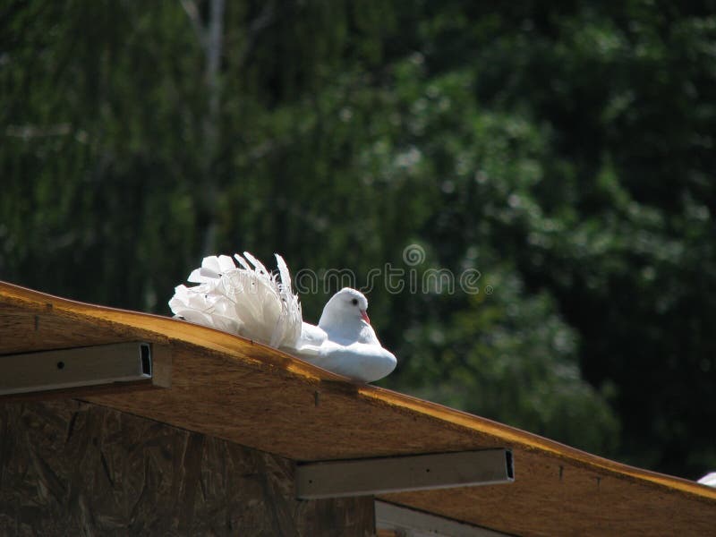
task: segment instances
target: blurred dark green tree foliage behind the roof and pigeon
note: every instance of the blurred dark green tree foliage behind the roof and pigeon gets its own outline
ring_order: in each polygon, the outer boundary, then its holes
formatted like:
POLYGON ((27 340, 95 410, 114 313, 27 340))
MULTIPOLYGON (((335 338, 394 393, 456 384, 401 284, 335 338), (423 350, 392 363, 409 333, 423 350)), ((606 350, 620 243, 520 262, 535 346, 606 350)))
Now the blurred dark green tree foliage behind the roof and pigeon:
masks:
POLYGON ((216 86, 186 5, 0 7, 0 277, 168 313, 214 252, 479 271, 373 287, 384 385, 716 468, 716 3, 242 0, 216 86))

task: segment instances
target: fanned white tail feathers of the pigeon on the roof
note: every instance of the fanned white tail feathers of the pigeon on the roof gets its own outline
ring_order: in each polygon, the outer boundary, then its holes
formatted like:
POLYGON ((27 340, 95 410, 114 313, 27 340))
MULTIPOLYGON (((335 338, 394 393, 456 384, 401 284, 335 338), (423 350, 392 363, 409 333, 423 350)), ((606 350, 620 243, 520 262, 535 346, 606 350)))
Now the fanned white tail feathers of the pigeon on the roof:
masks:
POLYGON ((279 279, 248 251, 243 256, 234 255, 239 267, 226 255, 204 258, 201 268, 187 278, 199 285, 177 286, 169 307, 175 315, 204 326, 273 347, 295 346, 303 320, 286 262, 276 256, 279 279))

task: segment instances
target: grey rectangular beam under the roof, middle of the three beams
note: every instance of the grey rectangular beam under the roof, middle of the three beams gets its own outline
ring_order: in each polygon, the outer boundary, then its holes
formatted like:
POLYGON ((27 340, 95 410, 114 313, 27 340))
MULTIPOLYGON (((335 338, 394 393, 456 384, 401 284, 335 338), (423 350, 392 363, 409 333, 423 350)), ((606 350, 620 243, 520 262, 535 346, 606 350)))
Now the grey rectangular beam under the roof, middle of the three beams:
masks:
POLYGON ((345 498, 514 481, 507 449, 390 456, 298 465, 299 499, 345 498))

